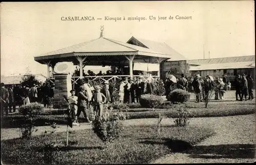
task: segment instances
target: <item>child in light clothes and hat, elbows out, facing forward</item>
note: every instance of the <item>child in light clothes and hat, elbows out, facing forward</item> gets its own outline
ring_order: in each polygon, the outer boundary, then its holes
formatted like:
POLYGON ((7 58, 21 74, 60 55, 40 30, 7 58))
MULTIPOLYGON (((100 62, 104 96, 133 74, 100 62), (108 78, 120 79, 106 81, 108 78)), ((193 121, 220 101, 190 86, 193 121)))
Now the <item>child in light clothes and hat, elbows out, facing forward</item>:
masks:
POLYGON ((93 94, 92 102, 94 104, 94 111, 98 112, 98 115, 102 115, 103 103, 106 102, 106 97, 100 92, 100 87, 95 86, 96 92, 93 94))

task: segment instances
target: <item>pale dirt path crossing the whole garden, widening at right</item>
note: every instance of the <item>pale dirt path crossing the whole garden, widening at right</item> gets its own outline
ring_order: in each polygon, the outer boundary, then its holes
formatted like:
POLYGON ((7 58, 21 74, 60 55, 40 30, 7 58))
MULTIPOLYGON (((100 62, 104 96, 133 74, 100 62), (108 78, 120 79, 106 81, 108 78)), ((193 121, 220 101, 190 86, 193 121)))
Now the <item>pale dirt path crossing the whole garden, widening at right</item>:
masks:
MULTIPOLYGON (((154 125, 158 119, 134 119, 124 121, 129 125, 154 125)), ((162 125, 173 125, 171 119, 164 119, 162 125)), ((152 163, 236 163, 254 162, 255 157, 255 114, 227 117, 199 117, 190 120, 189 125, 214 128, 216 135, 197 144, 194 150, 186 153, 168 154, 152 163)), ((67 126, 59 125, 56 132, 66 131, 67 126)), ((91 125, 82 123, 70 130, 91 129, 91 125)), ((50 126, 36 127, 39 135, 50 126)), ((1 129, 1 140, 19 137, 18 129, 1 129)))

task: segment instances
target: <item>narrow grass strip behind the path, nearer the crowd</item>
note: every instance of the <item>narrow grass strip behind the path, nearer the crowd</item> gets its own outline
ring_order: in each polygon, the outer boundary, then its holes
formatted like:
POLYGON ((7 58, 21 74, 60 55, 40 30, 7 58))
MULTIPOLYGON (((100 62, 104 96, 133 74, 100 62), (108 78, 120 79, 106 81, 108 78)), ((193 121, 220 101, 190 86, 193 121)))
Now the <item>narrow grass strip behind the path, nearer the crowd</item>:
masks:
MULTIPOLYGON (((240 102, 239 102, 240 103, 240 102)), ((135 105, 133 105, 135 106, 135 105)), ((137 105, 138 106, 138 105, 137 105)), ((255 113, 255 103, 240 103, 237 102, 219 102, 209 104, 208 108, 204 108, 203 103, 186 103, 186 104, 174 104, 174 105, 162 105, 160 108, 129 108, 122 110, 127 115, 127 119, 146 119, 146 118, 158 118, 161 116, 178 117, 178 109, 187 108, 190 117, 221 117, 221 116, 234 116, 245 115, 255 113)), ((58 111, 62 112, 63 111, 58 111)), ((40 115, 36 115, 35 126, 46 126, 46 123, 66 124, 66 120, 63 118, 63 114, 57 113, 57 111, 44 111, 40 115)), ((1 128, 18 128, 23 122, 22 115, 10 114, 2 117, 1 128)), ((80 123, 86 122, 81 114, 79 119, 80 123)))

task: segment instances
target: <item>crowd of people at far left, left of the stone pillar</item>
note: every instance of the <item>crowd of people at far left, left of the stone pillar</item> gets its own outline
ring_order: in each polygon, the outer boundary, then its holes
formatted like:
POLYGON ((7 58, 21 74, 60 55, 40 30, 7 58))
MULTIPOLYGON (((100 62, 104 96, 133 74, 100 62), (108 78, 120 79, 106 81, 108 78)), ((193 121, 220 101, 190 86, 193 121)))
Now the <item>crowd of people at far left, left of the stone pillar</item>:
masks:
POLYGON ((50 98, 54 97, 54 87, 49 83, 42 85, 33 84, 29 87, 21 85, 5 85, 1 83, 1 115, 16 111, 16 106, 22 106, 29 103, 43 103, 47 108, 50 104, 50 98))

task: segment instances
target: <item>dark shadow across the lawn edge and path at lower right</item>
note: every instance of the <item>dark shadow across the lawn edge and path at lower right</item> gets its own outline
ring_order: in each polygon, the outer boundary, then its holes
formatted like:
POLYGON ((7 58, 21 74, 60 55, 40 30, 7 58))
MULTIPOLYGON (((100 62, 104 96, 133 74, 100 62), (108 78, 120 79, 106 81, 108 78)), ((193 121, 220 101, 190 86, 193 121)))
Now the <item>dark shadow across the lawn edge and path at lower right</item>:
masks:
POLYGON ((188 142, 176 139, 151 139, 140 138, 140 143, 151 145, 166 145, 174 153, 186 153, 190 158, 204 159, 249 159, 255 158, 255 145, 251 144, 231 144, 231 145, 210 145, 193 146, 188 142))

